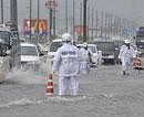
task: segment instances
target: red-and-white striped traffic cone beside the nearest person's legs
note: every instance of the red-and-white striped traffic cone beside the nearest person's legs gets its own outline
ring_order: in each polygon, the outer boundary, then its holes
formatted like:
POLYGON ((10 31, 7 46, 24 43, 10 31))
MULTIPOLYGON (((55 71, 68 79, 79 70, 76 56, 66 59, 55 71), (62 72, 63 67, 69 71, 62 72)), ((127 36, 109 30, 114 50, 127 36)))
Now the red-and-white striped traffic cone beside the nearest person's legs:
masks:
POLYGON ((52 77, 52 74, 50 74, 48 77, 47 77, 47 91, 45 91, 45 95, 49 95, 49 96, 52 96, 53 95, 53 77, 52 77))

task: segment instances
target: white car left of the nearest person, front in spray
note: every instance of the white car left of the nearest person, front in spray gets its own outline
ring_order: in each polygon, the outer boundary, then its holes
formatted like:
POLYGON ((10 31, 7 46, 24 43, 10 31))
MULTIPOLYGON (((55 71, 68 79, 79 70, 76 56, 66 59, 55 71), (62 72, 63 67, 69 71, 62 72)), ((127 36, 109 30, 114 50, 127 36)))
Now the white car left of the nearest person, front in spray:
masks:
POLYGON ((32 43, 20 43, 19 49, 21 68, 38 70, 40 66, 40 52, 38 46, 32 43))

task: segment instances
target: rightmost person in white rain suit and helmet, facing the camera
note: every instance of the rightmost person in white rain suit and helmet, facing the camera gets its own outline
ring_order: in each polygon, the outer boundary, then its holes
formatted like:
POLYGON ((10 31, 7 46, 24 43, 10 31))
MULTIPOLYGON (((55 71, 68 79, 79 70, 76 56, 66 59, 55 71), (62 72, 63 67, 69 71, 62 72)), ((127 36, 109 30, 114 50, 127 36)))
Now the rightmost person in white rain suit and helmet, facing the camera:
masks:
POLYGON ((121 46, 119 59, 122 62, 123 75, 128 75, 133 59, 136 57, 134 49, 130 44, 130 40, 124 41, 124 45, 121 46))

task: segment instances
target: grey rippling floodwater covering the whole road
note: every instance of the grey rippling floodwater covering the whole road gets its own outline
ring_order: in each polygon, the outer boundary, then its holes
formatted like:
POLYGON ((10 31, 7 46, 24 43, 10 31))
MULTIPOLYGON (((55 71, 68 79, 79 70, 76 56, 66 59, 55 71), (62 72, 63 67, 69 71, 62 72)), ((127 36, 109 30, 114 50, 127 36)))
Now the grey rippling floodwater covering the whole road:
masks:
POLYGON ((45 95, 48 72, 13 70, 0 85, 1 117, 144 117, 144 72, 123 76, 120 65, 102 65, 79 75, 78 96, 45 95))

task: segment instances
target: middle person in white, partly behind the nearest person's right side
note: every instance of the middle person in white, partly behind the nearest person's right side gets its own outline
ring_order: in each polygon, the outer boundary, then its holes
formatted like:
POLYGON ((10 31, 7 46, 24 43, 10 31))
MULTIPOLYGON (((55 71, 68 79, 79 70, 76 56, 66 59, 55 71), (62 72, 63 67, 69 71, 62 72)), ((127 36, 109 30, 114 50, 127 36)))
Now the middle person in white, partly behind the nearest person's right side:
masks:
POLYGON ((82 74, 90 73, 91 62, 92 62, 92 53, 88 49, 88 43, 83 43, 83 47, 80 49, 80 72, 82 74))

